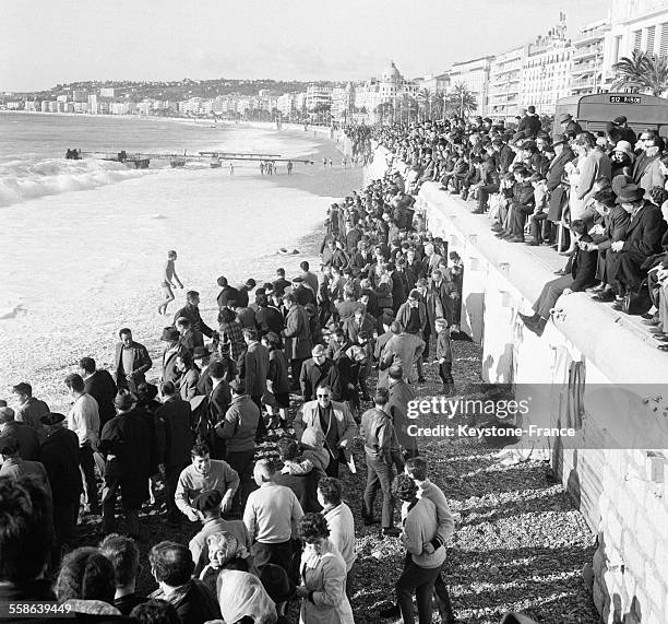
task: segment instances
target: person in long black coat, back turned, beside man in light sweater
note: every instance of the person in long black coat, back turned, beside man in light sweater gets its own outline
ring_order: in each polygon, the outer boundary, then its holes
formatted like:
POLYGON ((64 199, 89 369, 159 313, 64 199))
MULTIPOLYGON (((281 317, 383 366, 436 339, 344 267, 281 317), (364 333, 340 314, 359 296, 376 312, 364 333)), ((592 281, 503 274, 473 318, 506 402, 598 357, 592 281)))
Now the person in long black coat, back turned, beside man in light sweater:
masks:
POLYGON ((65 416, 58 413, 48 413, 39 419, 47 435, 41 444, 41 463, 51 485, 53 501, 55 565, 60 561, 63 545, 75 545, 79 499, 83 492, 79 470, 79 438, 64 426, 64 421, 65 416))

